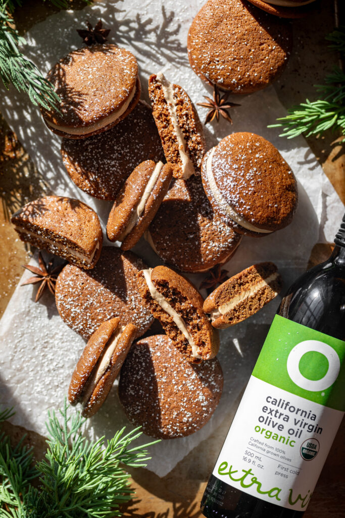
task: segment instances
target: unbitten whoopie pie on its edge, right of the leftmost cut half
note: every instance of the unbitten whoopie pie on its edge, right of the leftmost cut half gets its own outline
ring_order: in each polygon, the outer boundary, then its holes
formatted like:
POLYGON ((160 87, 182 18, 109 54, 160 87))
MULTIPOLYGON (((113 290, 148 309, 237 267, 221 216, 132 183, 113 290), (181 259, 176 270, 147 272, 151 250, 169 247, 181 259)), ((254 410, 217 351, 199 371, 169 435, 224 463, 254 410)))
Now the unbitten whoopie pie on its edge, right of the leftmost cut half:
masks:
POLYGON ((172 165, 152 160, 139 164, 119 192, 107 223, 110 241, 121 241, 122 250, 136 244, 151 223, 167 194, 172 165))

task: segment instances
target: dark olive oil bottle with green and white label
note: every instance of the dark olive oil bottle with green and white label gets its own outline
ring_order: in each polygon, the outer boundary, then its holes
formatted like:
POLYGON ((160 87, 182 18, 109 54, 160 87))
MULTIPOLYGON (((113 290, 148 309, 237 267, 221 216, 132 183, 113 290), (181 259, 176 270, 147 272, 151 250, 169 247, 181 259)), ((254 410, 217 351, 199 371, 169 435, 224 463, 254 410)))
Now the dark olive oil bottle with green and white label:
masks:
POLYGON ((281 302, 203 495, 207 518, 307 508, 345 410, 345 215, 335 243, 281 302))

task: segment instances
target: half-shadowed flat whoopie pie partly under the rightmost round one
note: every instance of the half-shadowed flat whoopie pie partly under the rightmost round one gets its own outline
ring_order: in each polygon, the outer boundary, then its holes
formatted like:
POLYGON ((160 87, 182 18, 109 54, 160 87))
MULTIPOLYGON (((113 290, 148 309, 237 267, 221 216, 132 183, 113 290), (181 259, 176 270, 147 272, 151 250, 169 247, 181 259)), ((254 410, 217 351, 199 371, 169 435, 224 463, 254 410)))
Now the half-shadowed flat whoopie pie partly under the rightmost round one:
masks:
POLYGON ((186 272, 226 263, 241 241, 213 210, 196 176, 173 179, 145 238, 163 261, 186 272))

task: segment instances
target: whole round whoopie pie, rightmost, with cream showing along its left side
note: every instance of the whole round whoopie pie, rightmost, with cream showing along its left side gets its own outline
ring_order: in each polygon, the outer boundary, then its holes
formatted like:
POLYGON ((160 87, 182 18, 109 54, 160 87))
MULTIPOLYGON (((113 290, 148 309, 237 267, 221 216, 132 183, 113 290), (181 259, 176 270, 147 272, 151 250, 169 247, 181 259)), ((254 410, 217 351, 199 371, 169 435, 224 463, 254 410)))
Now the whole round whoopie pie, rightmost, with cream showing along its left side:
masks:
POLYGON ((206 153, 201 176, 212 207, 236 232, 263 237, 291 223, 297 182, 263 137, 233 133, 223 138, 206 153))

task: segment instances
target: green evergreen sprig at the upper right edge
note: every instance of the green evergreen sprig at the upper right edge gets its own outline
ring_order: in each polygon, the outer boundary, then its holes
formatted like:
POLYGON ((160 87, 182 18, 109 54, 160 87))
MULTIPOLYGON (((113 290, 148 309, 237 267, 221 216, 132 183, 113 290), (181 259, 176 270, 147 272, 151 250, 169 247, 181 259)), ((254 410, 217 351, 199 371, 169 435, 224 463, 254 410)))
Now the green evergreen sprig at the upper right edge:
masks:
MULTIPOLYGON (((345 27, 339 27, 329 34, 326 39, 332 41, 329 48, 345 55, 345 27)), ((316 85, 321 99, 293 106, 286 117, 277 119, 277 124, 268 127, 283 127, 280 137, 294 138, 301 133, 306 137, 318 135, 329 128, 340 130, 345 138, 345 74, 336 67, 325 77, 325 84, 316 85)))

